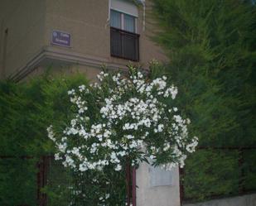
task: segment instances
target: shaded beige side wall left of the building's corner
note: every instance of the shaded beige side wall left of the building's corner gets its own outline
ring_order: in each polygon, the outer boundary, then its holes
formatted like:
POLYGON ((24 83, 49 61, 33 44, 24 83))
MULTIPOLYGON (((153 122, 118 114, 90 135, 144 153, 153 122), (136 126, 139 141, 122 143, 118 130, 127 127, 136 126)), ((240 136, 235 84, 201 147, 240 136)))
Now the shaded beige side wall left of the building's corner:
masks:
MULTIPOLYGON (((45 0, 1 0, 1 36, 8 29, 6 77, 25 66, 43 46, 45 8, 45 0)), ((1 37, 1 63, 3 44, 1 37)))

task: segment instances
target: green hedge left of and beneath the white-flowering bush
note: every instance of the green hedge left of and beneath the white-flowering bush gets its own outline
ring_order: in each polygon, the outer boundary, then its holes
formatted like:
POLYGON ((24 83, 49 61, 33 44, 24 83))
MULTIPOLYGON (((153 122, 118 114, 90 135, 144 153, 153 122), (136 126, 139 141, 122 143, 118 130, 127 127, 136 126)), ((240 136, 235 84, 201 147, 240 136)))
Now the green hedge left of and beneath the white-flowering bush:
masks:
POLYGON ((106 193, 108 205, 126 204, 125 165, 121 171, 108 167, 81 175, 50 158, 55 150, 46 128, 70 123, 75 113, 67 91, 81 84, 88 84, 84 74, 46 73, 19 84, 0 82, 0 205, 39 204, 37 173, 43 160, 46 185, 40 190, 47 194, 47 205, 99 205, 106 193))

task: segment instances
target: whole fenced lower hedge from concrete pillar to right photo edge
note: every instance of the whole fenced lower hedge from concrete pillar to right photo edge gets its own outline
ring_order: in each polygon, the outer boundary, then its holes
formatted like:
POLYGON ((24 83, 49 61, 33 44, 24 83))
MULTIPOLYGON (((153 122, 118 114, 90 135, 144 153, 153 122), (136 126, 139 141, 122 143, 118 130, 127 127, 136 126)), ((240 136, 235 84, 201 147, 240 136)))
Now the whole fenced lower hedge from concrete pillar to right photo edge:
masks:
POLYGON ((200 149, 181 174, 187 202, 256 192, 256 149, 200 149))

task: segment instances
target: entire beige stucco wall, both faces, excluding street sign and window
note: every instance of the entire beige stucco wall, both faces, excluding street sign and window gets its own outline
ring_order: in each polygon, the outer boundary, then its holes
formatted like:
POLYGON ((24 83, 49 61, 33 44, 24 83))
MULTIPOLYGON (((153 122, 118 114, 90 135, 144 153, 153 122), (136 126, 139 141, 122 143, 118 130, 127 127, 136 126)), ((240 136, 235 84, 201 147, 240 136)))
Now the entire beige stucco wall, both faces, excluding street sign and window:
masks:
MULTIPOLYGON (((148 1, 147 1, 148 2, 148 1)), ((147 5, 147 9, 148 5, 147 5)), ((166 60, 162 50, 149 40, 151 34, 146 14, 143 30, 143 11, 139 7, 140 62, 147 68, 152 59, 166 60)), ((109 0, 1 0, 0 2, 0 76, 2 69, 3 31, 8 28, 5 76, 21 80, 49 59, 65 65, 88 62, 99 65, 128 65, 128 60, 110 56, 109 0), (51 31, 71 34, 71 48, 51 45, 51 31), (45 61, 42 64, 42 61, 45 61), (17 75, 18 74, 18 75, 17 75), (18 77, 17 77, 18 76, 18 77)), ((134 63, 135 64, 135 63, 134 63)), ((138 63, 136 63, 138 64, 138 63)))

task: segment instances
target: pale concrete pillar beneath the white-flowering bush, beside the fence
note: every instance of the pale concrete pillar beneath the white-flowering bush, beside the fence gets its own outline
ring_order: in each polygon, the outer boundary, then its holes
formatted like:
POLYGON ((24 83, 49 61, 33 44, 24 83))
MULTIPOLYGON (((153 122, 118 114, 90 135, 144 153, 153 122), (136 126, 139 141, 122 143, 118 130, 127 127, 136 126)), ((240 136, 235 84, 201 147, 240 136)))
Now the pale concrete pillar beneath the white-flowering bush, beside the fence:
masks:
POLYGON ((136 182, 137 206, 181 206, 178 167, 165 171, 142 163, 136 182))

